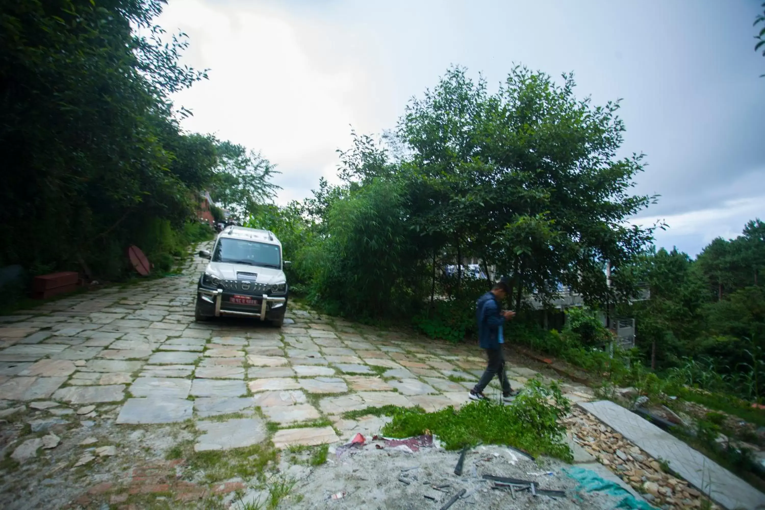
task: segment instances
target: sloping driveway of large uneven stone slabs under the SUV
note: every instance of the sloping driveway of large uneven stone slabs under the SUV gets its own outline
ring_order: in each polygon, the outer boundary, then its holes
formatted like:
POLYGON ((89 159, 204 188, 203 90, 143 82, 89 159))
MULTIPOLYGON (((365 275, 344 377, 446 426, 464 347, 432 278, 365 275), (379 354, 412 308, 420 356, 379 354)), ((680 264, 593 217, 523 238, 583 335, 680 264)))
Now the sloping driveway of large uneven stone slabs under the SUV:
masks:
MULTIPOLYGON (((459 406, 483 369, 477 347, 378 330, 294 306, 281 330, 252 320, 195 323, 194 288, 203 266, 194 258, 178 276, 0 317, 2 454, 22 466, 45 459, 50 450, 41 437, 51 427, 189 420, 197 451, 269 437, 276 447, 334 443, 356 432, 376 432, 382 424, 371 416, 343 420, 345 411, 386 404, 428 411, 459 406)), ((513 385, 534 375, 519 366, 509 369, 513 385)), ((574 400, 588 397, 582 386, 566 388, 574 400)), ((62 437, 66 443, 67 435, 62 437)), ((59 469, 95 455, 84 446, 72 450, 59 469)))

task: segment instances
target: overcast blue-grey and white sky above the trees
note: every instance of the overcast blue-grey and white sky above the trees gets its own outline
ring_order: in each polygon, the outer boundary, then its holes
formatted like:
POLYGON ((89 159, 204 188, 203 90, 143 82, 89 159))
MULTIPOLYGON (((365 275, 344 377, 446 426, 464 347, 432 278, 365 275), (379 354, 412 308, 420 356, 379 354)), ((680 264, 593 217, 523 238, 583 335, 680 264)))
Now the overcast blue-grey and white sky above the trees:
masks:
POLYGON ((393 128, 450 64, 494 89, 513 63, 573 71, 578 96, 622 98, 624 154, 649 166, 636 192, 660 194, 636 219, 664 219, 656 244, 696 255, 765 219, 765 58, 760 0, 170 0, 184 63, 210 80, 177 94, 184 128, 262 151, 278 202, 334 181, 350 127, 393 128))

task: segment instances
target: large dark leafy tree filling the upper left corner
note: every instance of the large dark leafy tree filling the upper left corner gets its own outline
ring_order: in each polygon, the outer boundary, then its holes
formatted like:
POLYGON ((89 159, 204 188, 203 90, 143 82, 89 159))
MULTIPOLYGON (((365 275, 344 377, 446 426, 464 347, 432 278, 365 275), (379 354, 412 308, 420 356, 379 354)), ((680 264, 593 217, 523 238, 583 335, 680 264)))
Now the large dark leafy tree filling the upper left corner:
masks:
POLYGON ((163 41, 161 5, 3 3, 0 265, 85 260, 113 276, 148 223, 178 226, 193 211, 192 174, 204 170, 176 165, 191 158, 168 94, 206 75, 178 63, 182 34, 163 41))

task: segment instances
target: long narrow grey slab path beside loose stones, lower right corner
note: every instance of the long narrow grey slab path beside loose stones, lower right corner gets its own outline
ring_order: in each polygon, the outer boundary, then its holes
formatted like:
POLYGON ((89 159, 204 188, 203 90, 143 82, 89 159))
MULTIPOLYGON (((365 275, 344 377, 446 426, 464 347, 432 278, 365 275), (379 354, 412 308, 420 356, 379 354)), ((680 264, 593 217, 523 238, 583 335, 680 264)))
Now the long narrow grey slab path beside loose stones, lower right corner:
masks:
MULTIPOLYGON (((514 369, 515 371, 515 369, 514 369)), ((702 453, 642 417, 611 401, 582 402, 584 411, 622 434, 724 508, 757 508, 765 495, 702 453), (711 480, 711 486, 709 484, 711 480)))

